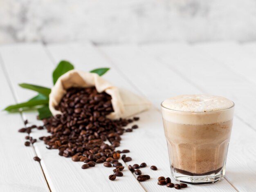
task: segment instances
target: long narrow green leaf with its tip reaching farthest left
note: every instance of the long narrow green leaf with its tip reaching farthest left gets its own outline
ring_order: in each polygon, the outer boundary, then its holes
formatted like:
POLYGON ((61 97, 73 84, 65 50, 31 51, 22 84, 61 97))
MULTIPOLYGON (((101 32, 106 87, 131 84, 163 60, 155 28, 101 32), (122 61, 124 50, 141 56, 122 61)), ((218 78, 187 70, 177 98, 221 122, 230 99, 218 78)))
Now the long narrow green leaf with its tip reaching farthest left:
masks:
POLYGON ((17 112, 20 111, 20 109, 25 110, 25 109, 34 109, 35 106, 38 105, 47 105, 49 103, 49 100, 31 100, 27 101, 25 103, 18 103, 16 105, 9 105, 6 107, 4 110, 8 112, 17 112))

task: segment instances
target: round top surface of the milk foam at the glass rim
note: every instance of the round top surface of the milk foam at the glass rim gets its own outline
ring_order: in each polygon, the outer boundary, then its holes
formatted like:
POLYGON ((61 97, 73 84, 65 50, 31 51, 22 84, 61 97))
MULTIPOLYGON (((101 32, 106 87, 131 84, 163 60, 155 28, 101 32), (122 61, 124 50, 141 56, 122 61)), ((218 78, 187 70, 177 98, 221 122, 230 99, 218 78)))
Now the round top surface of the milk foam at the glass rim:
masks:
POLYGON ((211 112, 228 109, 234 103, 224 97, 212 95, 180 95, 171 97, 162 103, 168 109, 184 112, 211 112))

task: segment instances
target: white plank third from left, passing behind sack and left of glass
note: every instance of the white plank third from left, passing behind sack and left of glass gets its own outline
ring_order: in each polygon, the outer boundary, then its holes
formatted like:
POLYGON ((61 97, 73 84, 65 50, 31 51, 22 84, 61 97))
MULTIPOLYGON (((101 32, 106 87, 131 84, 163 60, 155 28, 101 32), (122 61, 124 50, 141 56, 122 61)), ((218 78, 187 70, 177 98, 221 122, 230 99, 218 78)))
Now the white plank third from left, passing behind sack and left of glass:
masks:
MULTIPOLYGON (((111 54, 108 51, 105 52, 105 49, 103 49, 103 56, 106 57, 108 61, 102 61, 102 53, 97 52, 97 50, 95 49, 93 53, 90 52, 90 54, 86 54, 88 53, 88 46, 90 45, 75 43, 65 46, 66 48, 63 48, 63 52, 60 51, 60 45, 50 45, 48 46, 48 49, 55 60, 59 60, 63 57, 71 61, 76 60, 75 65, 78 66, 79 69, 83 67, 83 61, 86 60, 88 55, 93 54, 91 62, 87 63, 88 66, 92 66, 89 67, 89 69, 93 68, 94 66, 111 66, 111 68, 115 70, 111 69, 111 71, 108 72, 110 76, 104 76, 104 78, 108 80, 110 80, 111 78, 111 81, 113 83, 118 83, 125 88, 128 88, 126 86, 127 83, 129 83, 130 86, 132 85, 133 87, 132 90, 136 91, 136 93, 138 94, 148 96, 148 98, 150 99, 153 98, 151 100, 154 100, 155 103, 158 103, 158 105, 160 101, 164 99, 164 97, 167 97, 167 95, 171 93, 170 91, 166 91, 164 92, 164 96, 162 95, 163 92, 157 93, 157 87, 159 86, 160 81, 153 81, 153 79, 157 75, 152 76, 151 74, 152 71, 157 71, 159 72, 157 77, 161 79, 163 75, 160 72, 162 71, 158 70, 158 66, 152 66, 152 62, 150 62, 150 60, 145 60, 145 58, 138 57, 136 54, 133 54, 132 51, 126 52, 126 50, 130 50, 130 48, 127 48, 126 46, 124 46, 125 48, 122 49, 122 51, 118 52, 118 54, 111 54), (134 58, 135 63, 133 63, 133 60, 131 58, 134 58), (117 61, 116 59, 118 60, 118 62, 115 62, 117 61), (150 86, 150 84, 153 84, 153 86, 150 86), (151 95, 148 95, 148 89, 151 89, 151 95), (153 91, 155 91, 155 93, 153 93, 153 91)), ((118 48, 119 46, 117 46, 117 49, 118 48)), ((92 51, 92 49, 90 49, 90 51, 92 51)), ((179 78, 179 76, 177 76, 175 73, 172 73, 171 75, 177 77, 178 80, 182 82, 184 81, 182 78, 179 78)), ((162 80, 164 80, 164 78, 162 78, 162 80)), ((175 83, 173 81, 170 81, 170 83, 175 86, 175 83)), ((171 88, 171 85, 164 86, 171 88)), ((192 90, 193 89, 191 89, 191 91, 192 90)), ((179 91, 183 92, 184 90, 179 89, 179 91)), ((147 191, 169 191, 170 189, 164 186, 157 185, 157 178, 159 176, 171 176, 168 163, 167 147, 162 128, 161 115, 158 109, 151 109, 147 112, 139 114, 139 116, 141 118, 141 120, 137 122, 137 124, 139 125, 139 129, 136 129, 134 130, 134 132, 127 133, 122 136, 120 149, 130 149, 131 152, 129 155, 133 158, 133 160, 131 162, 128 162, 126 165, 146 162, 148 164, 148 167, 141 168, 141 171, 145 174, 149 174, 151 176, 151 179, 146 182, 141 182, 141 185, 147 191), (159 170, 150 170, 150 165, 156 165, 159 170)), ((225 180, 220 181, 216 185, 204 185, 201 187, 192 186, 186 190, 197 192, 212 190, 236 191, 225 180)))

